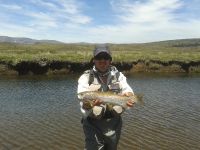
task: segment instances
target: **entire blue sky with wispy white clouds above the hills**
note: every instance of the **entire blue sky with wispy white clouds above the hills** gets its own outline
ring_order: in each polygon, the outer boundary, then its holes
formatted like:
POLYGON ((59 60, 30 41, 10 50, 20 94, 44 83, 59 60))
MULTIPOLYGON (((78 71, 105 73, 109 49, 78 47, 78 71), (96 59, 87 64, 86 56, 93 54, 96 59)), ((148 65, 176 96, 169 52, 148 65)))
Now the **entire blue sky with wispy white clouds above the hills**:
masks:
POLYGON ((66 43, 200 38, 200 1, 0 0, 0 36, 66 43))

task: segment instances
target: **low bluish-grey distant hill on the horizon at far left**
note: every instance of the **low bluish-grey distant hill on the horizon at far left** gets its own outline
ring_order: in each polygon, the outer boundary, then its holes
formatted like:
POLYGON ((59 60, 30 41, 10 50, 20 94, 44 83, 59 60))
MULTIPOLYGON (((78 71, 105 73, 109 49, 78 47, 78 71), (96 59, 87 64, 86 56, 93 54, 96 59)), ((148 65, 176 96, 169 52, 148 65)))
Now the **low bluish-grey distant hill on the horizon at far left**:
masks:
POLYGON ((62 42, 55 40, 35 40, 31 38, 25 37, 8 37, 8 36, 0 36, 0 42, 8 42, 8 43, 19 43, 19 44, 35 44, 35 43, 51 43, 51 44, 59 44, 62 42))

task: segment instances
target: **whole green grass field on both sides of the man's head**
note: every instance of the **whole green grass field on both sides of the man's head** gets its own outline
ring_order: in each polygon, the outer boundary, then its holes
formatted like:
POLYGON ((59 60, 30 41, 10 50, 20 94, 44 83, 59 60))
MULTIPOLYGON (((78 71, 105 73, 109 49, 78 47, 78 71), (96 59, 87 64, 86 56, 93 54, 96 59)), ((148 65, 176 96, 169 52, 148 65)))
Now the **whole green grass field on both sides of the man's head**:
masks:
MULTIPOLYGON (((0 61, 90 61, 94 44, 14 44, 0 43, 0 61)), ((200 39, 144 44, 109 44, 114 62, 137 60, 200 61, 200 39)))

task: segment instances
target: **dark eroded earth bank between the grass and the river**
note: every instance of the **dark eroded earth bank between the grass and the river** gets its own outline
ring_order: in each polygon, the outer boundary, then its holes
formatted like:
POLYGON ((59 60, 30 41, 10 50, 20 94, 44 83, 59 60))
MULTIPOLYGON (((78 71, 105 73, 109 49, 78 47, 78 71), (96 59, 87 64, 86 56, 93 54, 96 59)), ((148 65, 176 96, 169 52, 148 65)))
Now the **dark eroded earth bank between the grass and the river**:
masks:
MULTIPOLYGON (((113 62, 119 71, 134 72, 171 72, 200 73, 200 61, 159 61, 138 60, 133 62, 113 62)), ((0 75, 59 75, 81 73, 92 67, 90 62, 69 61, 22 61, 17 64, 0 62, 0 75)))

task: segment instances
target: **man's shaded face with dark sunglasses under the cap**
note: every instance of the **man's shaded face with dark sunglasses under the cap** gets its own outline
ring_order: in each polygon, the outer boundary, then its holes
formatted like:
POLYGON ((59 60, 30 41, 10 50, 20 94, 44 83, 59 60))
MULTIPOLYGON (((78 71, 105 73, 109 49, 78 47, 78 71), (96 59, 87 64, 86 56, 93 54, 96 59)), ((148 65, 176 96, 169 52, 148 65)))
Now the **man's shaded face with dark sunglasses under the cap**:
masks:
POLYGON ((100 72, 106 72, 111 64, 111 57, 107 53, 100 53, 94 57, 94 65, 100 72))

